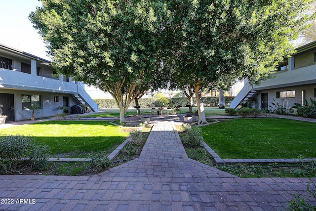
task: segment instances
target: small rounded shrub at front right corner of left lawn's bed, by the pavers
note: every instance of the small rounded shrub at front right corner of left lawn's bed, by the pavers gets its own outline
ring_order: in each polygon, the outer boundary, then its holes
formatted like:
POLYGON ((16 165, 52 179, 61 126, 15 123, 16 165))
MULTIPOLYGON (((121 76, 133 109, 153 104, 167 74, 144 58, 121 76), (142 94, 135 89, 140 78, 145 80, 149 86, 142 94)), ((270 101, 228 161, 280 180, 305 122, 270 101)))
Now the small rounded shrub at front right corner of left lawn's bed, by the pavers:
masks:
POLYGON ((96 171, 102 171, 110 169, 113 166, 113 162, 105 156, 105 152, 92 152, 88 155, 91 159, 89 166, 96 171))

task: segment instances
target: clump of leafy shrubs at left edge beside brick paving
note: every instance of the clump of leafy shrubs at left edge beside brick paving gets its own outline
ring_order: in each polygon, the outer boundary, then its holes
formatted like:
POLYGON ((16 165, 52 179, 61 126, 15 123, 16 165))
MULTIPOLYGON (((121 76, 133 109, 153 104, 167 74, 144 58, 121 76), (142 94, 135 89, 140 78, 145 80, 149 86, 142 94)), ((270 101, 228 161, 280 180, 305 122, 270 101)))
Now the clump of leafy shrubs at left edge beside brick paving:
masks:
POLYGON ((47 165, 48 147, 35 145, 30 136, 5 135, 1 138, 0 171, 5 174, 15 172, 22 159, 28 156, 32 168, 43 169, 47 165))

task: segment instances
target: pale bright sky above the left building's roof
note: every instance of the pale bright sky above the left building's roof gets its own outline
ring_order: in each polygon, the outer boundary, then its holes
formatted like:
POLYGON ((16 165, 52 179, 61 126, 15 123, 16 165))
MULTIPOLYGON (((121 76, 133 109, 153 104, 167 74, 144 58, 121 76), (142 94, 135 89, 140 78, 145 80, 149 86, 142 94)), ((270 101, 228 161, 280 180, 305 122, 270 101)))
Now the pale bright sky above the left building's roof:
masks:
POLYGON ((1 0, 0 43, 23 50, 44 59, 46 47, 28 16, 37 6, 38 0, 1 0))

